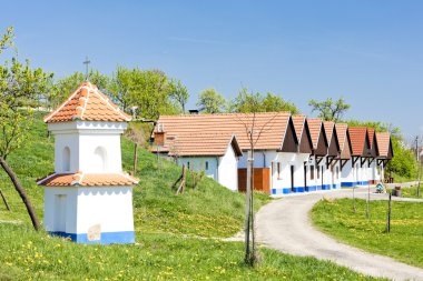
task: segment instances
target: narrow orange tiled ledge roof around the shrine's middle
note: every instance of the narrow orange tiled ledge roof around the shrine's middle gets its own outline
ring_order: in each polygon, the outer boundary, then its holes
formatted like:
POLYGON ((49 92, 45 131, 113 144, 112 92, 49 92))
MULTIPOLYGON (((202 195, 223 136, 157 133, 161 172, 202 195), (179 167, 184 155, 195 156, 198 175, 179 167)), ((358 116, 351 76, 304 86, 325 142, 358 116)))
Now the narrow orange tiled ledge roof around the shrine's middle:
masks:
POLYGON ((62 173, 51 174, 37 182, 46 187, 110 187, 110 185, 134 185, 138 180, 124 173, 62 173))

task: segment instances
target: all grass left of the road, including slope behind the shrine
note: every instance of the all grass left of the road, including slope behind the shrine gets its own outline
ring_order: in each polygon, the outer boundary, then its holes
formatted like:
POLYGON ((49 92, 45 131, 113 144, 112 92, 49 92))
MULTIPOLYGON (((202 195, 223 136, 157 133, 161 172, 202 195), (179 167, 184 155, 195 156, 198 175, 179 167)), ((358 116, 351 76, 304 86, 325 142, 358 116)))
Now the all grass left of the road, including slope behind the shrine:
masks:
MULTIPOLYGON (((27 188, 42 218, 42 188, 37 178, 53 170, 53 142, 47 129, 37 122, 26 145, 8 159, 27 188)), ((129 170, 132 145, 122 141, 124 168, 129 170)), ((0 280, 65 279, 218 279, 218 280, 367 280, 331 262, 285 255, 260 249, 262 263, 255 269, 240 261, 243 243, 222 242, 200 237, 229 237, 240 230, 244 214, 243 194, 234 193, 209 179, 196 190, 188 188, 175 195, 169 187, 180 168, 141 151, 140 184, 135 189, 135 245, 80 245, 45 232, 31 230, 23 204, 7 175, 0 171, 0 188, 12 212, 0 202, 0 280)), ((189 185, 190 179, 188 179, 189 185)), ((256 208, 269 200, 257 194, 256 208)))

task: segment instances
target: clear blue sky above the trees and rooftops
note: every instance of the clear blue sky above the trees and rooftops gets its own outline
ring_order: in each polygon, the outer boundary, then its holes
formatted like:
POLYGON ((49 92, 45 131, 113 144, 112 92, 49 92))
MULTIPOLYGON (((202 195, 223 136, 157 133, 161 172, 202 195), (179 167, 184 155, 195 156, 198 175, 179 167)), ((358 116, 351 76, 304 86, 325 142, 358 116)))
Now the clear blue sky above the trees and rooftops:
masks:
POLYGON ((345 98, 345 116, 423 134, 423 1, 1 1, 20 58, 63 77, 91 67, 157 68, 226 98, 242 86, 308 114, 345 98))

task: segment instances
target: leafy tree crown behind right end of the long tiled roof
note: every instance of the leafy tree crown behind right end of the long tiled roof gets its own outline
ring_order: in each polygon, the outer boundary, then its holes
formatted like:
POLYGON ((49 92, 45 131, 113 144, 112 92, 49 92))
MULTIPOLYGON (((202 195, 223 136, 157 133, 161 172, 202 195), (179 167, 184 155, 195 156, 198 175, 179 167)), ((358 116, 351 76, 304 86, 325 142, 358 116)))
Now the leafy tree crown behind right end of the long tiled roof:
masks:
POLYGON ((229 111, 243 113, 288 111, 293 114, 299 112, 294 103, 285 101, 277 94, 268 92, 262 96, 259 92, 248 92, 247 88, 243 88, 232 100, 229 111))

